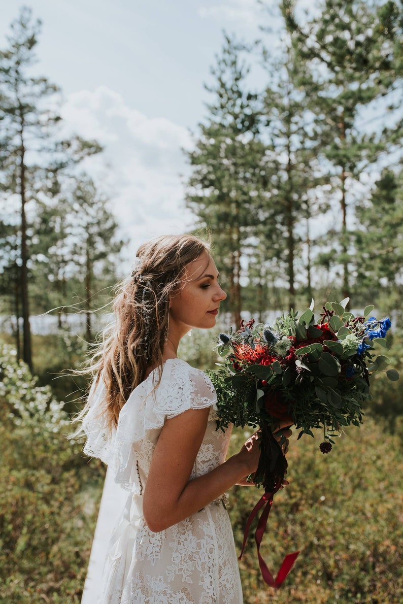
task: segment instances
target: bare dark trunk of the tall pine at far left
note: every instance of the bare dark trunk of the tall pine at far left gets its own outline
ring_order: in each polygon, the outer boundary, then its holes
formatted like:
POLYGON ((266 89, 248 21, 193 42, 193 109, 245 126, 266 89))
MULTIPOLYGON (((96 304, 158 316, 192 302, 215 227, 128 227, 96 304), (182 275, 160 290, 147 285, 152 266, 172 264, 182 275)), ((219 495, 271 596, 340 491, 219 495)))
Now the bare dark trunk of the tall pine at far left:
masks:
POLYGON ((26 190, 25 190, 25 146, 24 146, 24 116, 21 110, 21 147, 20 147, 20 165, 19 176, 21 186, 21 298, 22 298, 22 358, 32 371, 32 352, 31 352, 31 327, 30 327, 30 309, 28 299, 28 249, 27 249, 27 217, 25 215, 26 190))

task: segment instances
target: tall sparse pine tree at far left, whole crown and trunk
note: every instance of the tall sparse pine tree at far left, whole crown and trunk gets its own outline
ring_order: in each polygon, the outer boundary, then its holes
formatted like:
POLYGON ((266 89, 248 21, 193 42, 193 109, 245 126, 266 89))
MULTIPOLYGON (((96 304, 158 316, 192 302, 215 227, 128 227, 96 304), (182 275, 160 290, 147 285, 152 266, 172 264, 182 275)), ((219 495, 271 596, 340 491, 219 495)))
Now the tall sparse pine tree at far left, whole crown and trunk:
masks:
POLYGON ((45 77, 31 76, 36 63, 34 50, 40 21, 33 21, 31 10, 22 8, 11 24, 8 48, 0 52, 0 141, 1 191, 8 203, 6 223, 15 224, 19 213, 19 282, 23 319, 24 361, 32 368, 30 297, 28 271, 32 262, 31 222, 36 202, 58 188, 59 173, 83 156, 100 151, 97 143, 79 137, 56 139, 60 116, 54 107, 59 89, 45 77), (18 199, 19 210, 16 210, 18 199))

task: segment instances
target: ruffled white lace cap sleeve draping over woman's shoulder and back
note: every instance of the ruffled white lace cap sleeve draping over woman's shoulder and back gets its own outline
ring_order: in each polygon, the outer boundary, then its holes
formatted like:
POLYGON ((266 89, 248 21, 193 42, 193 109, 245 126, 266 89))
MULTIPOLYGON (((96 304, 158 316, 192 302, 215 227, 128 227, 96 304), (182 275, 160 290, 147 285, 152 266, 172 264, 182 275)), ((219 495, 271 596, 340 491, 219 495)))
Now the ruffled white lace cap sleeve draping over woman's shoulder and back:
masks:
POLYGON ((137 494, 142 490, 138 462, 144 461, 145 453, 150 458, 158 431, 167 419, 207 407, 211 407, 209 420, 217 417, 217 397, 210 379, 181 359, 165 362, 159 383, 155 371, 132 391, 112 432, 106 423, 102 381, 92 387, 89 400, 91 406, 82 426, 88 439, 84 452, 111 465, 115 482, 137 494))

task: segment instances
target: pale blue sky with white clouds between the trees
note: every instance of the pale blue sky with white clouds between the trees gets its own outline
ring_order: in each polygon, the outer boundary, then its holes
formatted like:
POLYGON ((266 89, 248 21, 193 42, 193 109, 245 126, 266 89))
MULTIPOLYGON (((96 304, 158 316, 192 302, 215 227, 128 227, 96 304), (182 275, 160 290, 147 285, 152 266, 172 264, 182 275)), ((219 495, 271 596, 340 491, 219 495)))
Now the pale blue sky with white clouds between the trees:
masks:
MULTIPOLYGON (((194 223, 183 149, 207 114, 204 84, 223 31, 252 41, 279 20, 257 0, 0 0, 2 48, 22 4, 42 21, 36 72, 62 89, 66 130, 105 147, 85 168, 111 198, 130 265, 144 240, 194 223)), ((262 86, 263 72, 252 77, 262 86)))

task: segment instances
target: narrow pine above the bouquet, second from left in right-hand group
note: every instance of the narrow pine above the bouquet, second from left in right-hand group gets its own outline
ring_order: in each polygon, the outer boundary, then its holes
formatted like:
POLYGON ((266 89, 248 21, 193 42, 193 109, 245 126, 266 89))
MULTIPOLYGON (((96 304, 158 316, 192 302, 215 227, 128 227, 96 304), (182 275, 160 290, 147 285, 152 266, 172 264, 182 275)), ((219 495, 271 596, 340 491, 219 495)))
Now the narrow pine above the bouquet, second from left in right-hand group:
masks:
POLYGON ((279 60, 273 63, 270 56, 265 53, 270 84, 265 92, 267 123, 262 135, 269 140, 267 205, 277 236, 271 242, 268 261, 277 262, 277 274, 284 275, 288 283, 291 309, 295 308, 297 286, 311 291, 310 249, 306 260, 302 253, 304 245, 310 245, 306 222, 318 212, 318 204, 312 203, 312 191, 321 187, 323 178, 317 165, 317 141, 312 136, 312 113, 306 95, 297 86, 300 71, 292 62, 289 40, 279 60))

